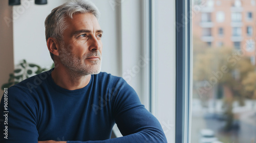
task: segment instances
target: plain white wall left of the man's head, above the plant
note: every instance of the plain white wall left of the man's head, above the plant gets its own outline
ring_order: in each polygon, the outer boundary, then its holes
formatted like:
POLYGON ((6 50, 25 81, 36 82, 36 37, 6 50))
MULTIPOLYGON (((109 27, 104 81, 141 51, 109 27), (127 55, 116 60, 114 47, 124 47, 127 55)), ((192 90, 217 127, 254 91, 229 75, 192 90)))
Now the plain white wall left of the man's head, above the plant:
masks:
POLYGON ((51 10, 67 0, 49 0, 47 5, 35 5, 34 1, 22 0, 13 6, 14 64, 23 59, 40 66, 51 66, 45 38, 45 19, 51 10))

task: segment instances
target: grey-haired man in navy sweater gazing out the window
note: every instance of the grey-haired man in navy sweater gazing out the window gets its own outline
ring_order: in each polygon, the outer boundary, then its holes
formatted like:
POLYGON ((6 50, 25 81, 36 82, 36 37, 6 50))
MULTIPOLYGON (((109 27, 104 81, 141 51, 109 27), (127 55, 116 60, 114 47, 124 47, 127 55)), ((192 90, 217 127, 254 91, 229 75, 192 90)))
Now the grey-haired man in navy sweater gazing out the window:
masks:
POLYGON ((132 87, 100 73, 103 32, 98 16, 88 1, 52 10, 45 27, 55 68, 8 89, 0 108, 0 119, 7 118, 0 142, 167 142, 132 87), (123 137, 110 139, 115 123, 123 137))

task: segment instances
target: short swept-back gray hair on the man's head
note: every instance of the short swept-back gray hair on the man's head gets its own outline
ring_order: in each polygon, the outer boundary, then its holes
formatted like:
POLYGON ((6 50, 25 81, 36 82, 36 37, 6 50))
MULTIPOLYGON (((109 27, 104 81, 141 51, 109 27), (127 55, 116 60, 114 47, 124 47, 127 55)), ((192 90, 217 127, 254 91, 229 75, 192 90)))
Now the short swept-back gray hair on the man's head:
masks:
MULTIPOLYGON (((52 12, 46 17, 46 41, 52 37, 61 43, 64 40, 63 31, 68 27, 65 19, 67 17, 73 18, 73 14, 78 13, 92 13, 97 19, 99 19, 98 8, 90 1, 87 0, 73 0, 60 5, 52 10, 52 12)), ((51 58, 53 54, 50 52, 51 58)), ((54 60, 54 59, 53 59, 54 60)))

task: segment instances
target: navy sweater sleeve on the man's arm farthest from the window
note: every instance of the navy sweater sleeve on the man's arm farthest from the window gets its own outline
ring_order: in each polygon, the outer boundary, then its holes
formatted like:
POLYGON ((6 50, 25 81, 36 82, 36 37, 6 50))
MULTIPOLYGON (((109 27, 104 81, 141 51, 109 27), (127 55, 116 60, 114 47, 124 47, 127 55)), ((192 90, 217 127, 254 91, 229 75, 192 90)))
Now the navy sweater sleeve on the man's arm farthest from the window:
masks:
POLYGON ((1 100, 0 114, 0 142, 37 143, 35 106, 26 93, 10 87, 1 100))

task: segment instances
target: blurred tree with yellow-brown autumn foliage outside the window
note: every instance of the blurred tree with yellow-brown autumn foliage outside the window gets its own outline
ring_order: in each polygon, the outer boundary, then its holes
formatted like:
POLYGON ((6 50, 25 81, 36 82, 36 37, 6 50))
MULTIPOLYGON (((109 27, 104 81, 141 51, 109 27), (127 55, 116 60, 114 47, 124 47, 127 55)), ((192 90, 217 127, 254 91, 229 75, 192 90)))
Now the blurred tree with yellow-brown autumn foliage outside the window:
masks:
POLYGON ((245 99, 256 99, 255 66, 241 53, 232 47, 209 47, 199 38, 193 39, 194 93, 204 102, 223 99, 228 130, 236 120, 233 102, 243 106, 245 99))

